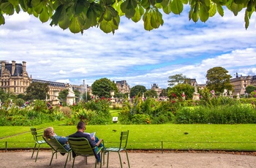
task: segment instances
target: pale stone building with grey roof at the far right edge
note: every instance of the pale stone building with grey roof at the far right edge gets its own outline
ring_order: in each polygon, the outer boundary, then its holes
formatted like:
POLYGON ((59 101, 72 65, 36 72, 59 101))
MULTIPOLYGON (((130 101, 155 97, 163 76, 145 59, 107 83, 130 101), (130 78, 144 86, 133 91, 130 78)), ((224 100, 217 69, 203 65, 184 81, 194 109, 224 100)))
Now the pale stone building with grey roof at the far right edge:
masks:
POLYGON ((245 88, 248 85, 255 85, 256 86, 256 75, 254 76, 240 76, 238 77, 238 73, 236 73, 236 77, 230 79, 230 84, 234 87, 234 93, 233 95, 244 95, 245 94, 245 88))

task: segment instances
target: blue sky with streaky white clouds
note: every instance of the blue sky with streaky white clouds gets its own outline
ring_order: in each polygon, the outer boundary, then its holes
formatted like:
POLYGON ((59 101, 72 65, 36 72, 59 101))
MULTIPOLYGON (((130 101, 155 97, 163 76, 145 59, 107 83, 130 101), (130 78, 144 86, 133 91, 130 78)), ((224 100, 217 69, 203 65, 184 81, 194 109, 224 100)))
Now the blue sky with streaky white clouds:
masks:
POLYGON ((235 77, 256 75, 256 17, 247 30, 244 12, 225 11, 206 23, 189 21, 187 12, 165 15, 165 23, 146 31, 143 22, 121 18, 113 34, 90 28, 82 34, 41 23, 26 13, 5 16, 0 26, 0 60, 26 61, 32 78, 75 85, 95 80, 127 80, 132 86, 167 88, 170 75, 206 83, 206 72, 222 66, 235 77))

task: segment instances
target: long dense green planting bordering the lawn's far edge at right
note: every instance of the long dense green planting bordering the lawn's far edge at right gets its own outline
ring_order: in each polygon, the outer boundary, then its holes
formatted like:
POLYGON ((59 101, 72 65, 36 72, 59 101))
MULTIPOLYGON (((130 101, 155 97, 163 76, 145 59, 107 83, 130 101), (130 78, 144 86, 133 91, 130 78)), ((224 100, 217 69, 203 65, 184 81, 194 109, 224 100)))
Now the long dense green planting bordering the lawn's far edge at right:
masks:
POLYGON ((251 105, 234 104, 217 107, 184 107, 176 112, 175 123, 255 123, 251 105))

